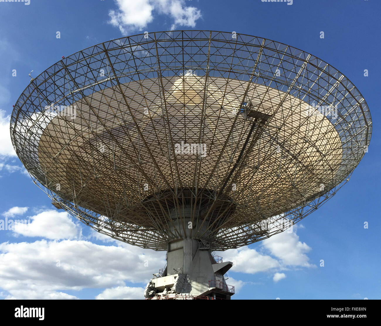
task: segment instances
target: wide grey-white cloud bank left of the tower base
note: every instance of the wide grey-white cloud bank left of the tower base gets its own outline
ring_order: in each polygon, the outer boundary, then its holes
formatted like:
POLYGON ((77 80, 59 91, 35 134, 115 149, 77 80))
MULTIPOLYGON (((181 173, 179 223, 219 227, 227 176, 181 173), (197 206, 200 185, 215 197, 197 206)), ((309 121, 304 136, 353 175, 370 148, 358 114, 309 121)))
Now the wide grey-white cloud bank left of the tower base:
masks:
POLYGON ((8 299, 75 299, 64 291, 147 283, 165 265, 164 252, 83 240, 2 243, 0 253, 0 287, 8 299))

